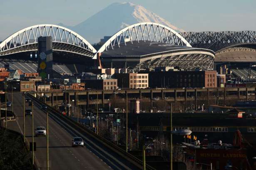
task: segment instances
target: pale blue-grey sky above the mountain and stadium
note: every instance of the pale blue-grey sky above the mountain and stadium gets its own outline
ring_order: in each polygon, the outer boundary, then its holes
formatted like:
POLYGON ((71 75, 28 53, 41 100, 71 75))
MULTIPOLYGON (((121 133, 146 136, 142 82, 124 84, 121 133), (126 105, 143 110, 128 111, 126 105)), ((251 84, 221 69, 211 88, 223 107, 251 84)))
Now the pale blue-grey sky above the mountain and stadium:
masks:
MULTIPOLYGON (((0 40, 35 24, 74 26, 124 0, 1 0, 0 40)), ((186 31, 256 30, 256 0, 129 0, 186 31)), ((121 11, 120 11, 121 12, 121 11)))

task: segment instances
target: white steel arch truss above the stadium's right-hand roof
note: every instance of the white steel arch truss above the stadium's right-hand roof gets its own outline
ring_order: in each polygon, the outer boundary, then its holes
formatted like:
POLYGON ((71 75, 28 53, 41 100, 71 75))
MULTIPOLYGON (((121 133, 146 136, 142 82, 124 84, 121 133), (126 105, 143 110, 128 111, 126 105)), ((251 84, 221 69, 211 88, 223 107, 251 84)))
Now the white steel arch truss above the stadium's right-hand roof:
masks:
MULTIPOLYGON (((133 44, 134 41, 138 43, 141 41, 153 41, 191 47, 191 45, 173 29, 162 24, 143 22, 130 25, 120 30, 106 41, 97 52, 101 53, 109 49, 113 50, 114 46, 118 46, 120 48, 120 44, 124 44, 126 46, 127 43, 133 44), (168 37, 170 38, 168 39, 168 37)), ((96 55, 94 58, 96 58, 96 55)))

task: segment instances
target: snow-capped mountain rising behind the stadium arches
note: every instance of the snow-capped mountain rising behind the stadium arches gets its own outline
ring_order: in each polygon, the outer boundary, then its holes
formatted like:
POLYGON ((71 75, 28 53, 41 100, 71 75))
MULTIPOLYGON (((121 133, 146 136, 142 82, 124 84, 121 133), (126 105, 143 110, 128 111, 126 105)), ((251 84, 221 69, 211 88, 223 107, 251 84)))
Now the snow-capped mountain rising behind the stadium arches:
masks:
POLYGON ((120 29, 138 22, 156 22, 177 32, 184 31, 141 5, 130 2, 113 3, 74 27, 65 26, 62 23, 60 25, 72 29, 89 43, 94 44, 99 42, 103 36, 112 36, 120 29))

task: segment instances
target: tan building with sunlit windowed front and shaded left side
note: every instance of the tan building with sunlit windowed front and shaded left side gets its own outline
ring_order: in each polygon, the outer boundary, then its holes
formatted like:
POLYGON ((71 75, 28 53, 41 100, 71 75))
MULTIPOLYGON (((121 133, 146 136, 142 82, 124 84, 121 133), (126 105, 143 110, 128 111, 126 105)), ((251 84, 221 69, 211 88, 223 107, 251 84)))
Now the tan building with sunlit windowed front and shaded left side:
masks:
POLYGON ((120 88, 147 88, 149 87, 148 73, 117 73, 113 75, 120 88))

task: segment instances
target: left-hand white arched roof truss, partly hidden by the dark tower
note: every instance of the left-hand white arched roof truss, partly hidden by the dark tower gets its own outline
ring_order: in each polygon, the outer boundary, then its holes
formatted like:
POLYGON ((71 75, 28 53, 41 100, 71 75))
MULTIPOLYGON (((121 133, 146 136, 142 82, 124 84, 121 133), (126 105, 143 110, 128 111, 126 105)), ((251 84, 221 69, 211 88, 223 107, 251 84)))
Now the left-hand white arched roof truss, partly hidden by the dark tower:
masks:
POLYGON ((52 24, 40 24, 22 29, 2 41, 0 56, 37 51, 39 36, 52 36, 53 51, 77 53, 91 58, 96 52, 88 41, 70 29, 52 24))

